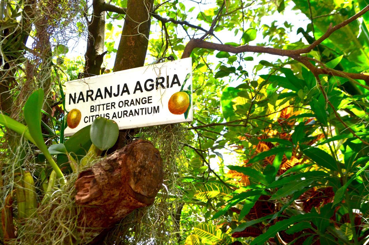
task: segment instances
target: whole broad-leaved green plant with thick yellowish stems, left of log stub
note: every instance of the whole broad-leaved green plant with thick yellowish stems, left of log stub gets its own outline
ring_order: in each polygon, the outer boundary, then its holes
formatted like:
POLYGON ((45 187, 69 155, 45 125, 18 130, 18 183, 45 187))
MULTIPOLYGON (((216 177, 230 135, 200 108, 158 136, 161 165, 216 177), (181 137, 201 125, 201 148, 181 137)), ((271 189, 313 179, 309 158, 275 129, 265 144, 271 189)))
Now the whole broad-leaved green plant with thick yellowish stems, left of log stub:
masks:
MULTIPOLYGON (((37 215, 36 209, 39 200, 42 204, 45 204, 48 197, 58 186, 62 187, 67 184, 68 177, 66 175, 68 172, 77 172, 89 162, 96 160, 101 152, 111 148, 118 138, 118 125, 113 120, 98 117, 92 125, 82 128, 64 143, 47 147, 41 131, 43 101, 44 91, 41 88, 28 98, 24 106, 24 119, 27 126, 7 115, 0 114, 0 124, 23 135, 41 151, 35 161, 42 163, 46 160, 51 167, 51 169, 48 167, 41 170, 35 169, 33 171, 39 174, 32 175, 29 171, 23 169, 22 161, 15 163, 17 164, 14 173, 15 193, 10 192, 8 194, 1 216, 5 239, 15 238, 14 231, 20 228, 17 226, 22 225, 25 219, 37 215), (56 161, 52 157, 53 155, 56 156, 56 161), (69 163, 69 167, 65 166, 67 163, 69 163), (38 178, 36 182, 34 178, 38 178), (17 204, 17 213, 13 212, 12 204, 14 201, 17 204), (16 218, 15 222, 13 222, 14 217, 16 218)), ((61 132, 63 132, 65 123, 61 126, 61 132)), ((63 135, 61 135, 61 138, 63 138, 63 135)))

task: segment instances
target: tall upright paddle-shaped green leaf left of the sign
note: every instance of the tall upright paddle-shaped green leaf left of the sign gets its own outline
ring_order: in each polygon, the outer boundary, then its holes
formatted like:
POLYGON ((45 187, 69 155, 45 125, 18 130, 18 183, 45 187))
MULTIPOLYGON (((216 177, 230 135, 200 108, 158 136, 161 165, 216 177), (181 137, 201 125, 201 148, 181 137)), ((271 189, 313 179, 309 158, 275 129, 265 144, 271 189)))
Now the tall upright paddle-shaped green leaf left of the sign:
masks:
POLYGON ((58 178, 63 178, 63 173, 52 159, 48 148, 44 142, 44 137, 42 137, 41 132, 41 108, 42 103, 44 102, 44 90, 39 88, 34 91, 24 105, 24 119, 27 122, 28 129, 30 131, 31 137, 34 139, 37 147, 44 153, 45 158, 48 160, 51 167, 56 172, 56 176, 58 178))

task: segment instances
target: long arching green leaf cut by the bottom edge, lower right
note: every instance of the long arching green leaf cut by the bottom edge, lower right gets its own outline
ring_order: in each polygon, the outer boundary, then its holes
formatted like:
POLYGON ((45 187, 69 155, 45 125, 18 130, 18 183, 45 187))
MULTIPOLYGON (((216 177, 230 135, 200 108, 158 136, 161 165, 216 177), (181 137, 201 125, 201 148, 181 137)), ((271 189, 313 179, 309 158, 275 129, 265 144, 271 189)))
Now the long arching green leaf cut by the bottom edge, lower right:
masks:
POLYGON ((264 242, 268 241, 269 238, 275 236, 277 232, 287 229, 288 226, 301 221, 309 221, 313 218, 321 219, 321 215, 314 213, 299 214, 289 219, 278 221, 275 225, 270 226, 265 233, 256 237, 250 245, 263 244, 264 242))

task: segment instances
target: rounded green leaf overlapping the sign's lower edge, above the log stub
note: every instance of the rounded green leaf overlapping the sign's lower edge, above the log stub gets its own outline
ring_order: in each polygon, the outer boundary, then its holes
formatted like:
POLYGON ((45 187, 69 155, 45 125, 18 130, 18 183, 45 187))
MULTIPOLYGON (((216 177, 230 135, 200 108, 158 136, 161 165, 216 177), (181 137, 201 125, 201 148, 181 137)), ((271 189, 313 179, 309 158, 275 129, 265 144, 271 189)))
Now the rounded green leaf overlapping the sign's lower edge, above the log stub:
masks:
POLYGON ((96 118, 90 128, 90 138, 101 151, 105 151, 117 142, 119 135, 118 124, 114 120, 104 117, 96 118))

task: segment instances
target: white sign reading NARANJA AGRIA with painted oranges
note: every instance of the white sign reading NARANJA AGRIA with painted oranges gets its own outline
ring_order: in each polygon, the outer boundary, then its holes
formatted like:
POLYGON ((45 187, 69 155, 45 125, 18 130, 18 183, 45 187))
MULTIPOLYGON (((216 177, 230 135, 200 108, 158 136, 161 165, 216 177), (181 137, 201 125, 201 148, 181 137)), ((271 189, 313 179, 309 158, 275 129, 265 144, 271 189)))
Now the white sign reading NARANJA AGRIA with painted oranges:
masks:
POLYGON ((70 114, 66 136, 100 116, 117 122, 119 129, 192 121, 192 60, 68 81, 65 110, 70 114))

